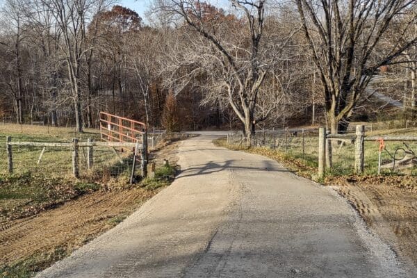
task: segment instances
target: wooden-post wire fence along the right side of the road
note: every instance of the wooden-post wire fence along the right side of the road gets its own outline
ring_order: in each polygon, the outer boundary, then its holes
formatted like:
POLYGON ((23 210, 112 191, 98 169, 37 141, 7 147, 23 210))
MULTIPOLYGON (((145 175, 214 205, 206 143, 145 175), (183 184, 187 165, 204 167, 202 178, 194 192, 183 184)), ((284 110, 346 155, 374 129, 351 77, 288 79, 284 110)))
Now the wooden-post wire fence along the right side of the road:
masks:
MULTIPOLYGON (((343 174, 417 174, 417 136, 366 136, 368 126, 354 133, 330 134, 320 129, 258 131, 253 147, 268 147, 318 169, 318 178, 343 174)), ((245 145, 240 132, 229 133, 229 145, 245 145)), ((284 156, 284 157, 285 157, 284 156)))

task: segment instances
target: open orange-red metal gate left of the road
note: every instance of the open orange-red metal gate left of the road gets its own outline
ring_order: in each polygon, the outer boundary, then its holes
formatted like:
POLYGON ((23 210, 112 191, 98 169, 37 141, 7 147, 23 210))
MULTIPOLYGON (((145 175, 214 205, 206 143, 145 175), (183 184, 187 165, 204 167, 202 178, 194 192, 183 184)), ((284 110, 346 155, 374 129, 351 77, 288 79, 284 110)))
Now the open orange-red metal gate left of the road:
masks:
POLYGON ((146 133, 143 122, 100 112, 101 140, 108 142, 136 142, 146 133))

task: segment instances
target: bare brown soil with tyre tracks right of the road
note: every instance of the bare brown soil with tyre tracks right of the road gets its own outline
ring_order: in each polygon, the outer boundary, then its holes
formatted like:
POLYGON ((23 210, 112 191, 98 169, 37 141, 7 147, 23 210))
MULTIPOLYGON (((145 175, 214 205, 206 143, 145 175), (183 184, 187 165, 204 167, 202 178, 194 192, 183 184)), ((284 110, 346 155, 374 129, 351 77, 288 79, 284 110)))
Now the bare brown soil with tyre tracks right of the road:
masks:
POLYGON ((417 177, 338 177, 327 184, 336 184, 370 229, 417 267, 417 177))

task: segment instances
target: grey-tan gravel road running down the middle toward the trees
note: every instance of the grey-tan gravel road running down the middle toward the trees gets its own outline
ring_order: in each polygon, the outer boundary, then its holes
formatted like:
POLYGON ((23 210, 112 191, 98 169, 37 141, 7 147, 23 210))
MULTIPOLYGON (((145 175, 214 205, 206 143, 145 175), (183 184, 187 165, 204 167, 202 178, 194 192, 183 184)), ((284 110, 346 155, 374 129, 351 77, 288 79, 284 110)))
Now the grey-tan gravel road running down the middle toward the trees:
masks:
POLYGON ((263 156, 183 141, 181 174, 41 277, 411 277, 332 189, 263 156))

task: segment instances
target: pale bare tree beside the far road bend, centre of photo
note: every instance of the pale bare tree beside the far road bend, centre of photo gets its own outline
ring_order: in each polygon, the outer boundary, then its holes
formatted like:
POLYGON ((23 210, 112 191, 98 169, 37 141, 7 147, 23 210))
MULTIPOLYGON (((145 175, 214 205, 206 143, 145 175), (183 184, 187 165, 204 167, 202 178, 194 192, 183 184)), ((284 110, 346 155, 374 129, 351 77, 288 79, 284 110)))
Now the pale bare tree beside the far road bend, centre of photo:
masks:
POLYGON ((202 63, 206 63, 207 58, 216 61, 222 90, 227 92, 229 105, 243 123, 247 145, 250 145, 256 124, 270 114, 267 111, 256 117, 259 90, 270 65, 277 58, 275 54, 291 35, 273 45, 265 44, 265 0, 231 0, 230 3, 235 8, 235 15, 226 15, 223 10, 198 0, 165 1, 160 4, 160 9, 179 15, 191 30, 208 42, 200 44, 208 52, 200 55, 199 60, 202 63))

